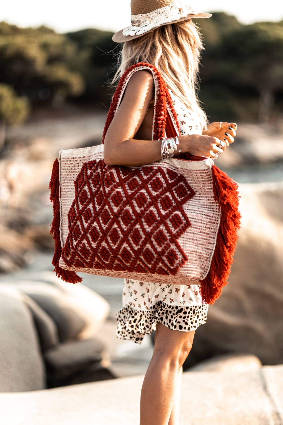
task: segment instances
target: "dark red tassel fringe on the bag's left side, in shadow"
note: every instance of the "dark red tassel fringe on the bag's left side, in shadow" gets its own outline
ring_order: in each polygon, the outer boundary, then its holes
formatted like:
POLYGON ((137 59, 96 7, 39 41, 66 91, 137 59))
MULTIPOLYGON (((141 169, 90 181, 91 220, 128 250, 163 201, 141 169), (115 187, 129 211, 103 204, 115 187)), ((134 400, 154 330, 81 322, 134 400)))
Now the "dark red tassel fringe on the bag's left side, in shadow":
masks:
POLYGON ((76 272, 64 270, 59 266, 59 259, 61 257, 61 240, 60 240, 60 211, 59 211, 59 161, 56 158, 53 163, 51 178, 49 182, 50 201, 53 203, 53 221, 51 223, 50 233, 53 234, 55 240, 55 249, 52 264, 55 267, 53 270, 56 272, 58 278, 65 280, 65 282, 77 283, 81 282, 82 278, 76 272))

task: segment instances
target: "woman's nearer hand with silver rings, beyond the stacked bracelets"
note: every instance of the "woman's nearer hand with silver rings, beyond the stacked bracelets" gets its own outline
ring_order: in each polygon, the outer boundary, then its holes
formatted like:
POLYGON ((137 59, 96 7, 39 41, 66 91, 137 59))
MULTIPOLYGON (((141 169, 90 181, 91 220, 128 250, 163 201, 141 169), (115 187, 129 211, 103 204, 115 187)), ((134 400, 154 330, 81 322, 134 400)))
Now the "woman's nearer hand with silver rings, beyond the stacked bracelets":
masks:
POLYGON ((178 139, 182 152, 187 152, 194 156, 216 159, 226 149, 225 142, 217 139, 217 137, 203 134, 189 134, 187 136, 179 136, 178 139))

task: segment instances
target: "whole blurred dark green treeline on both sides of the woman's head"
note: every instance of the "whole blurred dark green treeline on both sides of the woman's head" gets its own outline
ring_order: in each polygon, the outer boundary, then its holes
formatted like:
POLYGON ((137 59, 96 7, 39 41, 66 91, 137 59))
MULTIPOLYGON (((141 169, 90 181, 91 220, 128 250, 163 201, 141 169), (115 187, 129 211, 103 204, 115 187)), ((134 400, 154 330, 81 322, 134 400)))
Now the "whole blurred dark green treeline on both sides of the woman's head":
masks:
MULTIPOLYGON (((283 21, 247 26, 213 12, 195 22, 204 34, 199 97, 207 115, 260 122, 280 116, 283 21)), ((0 82, 26 96, 31 108, 72 101, 107 111, 113 95, 108 81, 121 48, 112 35, 94 28, 57 34, 46 26, 0 22, 0 82)))

